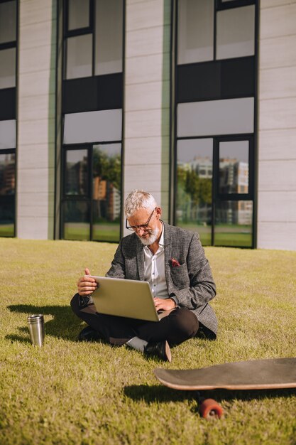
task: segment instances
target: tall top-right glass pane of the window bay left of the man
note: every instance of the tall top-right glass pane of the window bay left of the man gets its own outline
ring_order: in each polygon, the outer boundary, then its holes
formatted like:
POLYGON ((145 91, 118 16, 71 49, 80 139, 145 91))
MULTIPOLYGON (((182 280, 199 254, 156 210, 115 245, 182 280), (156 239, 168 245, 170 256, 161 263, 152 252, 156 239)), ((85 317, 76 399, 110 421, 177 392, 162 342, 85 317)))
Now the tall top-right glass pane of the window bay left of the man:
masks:
POLYGON ((122 0, 96 2, 96 75, 122 71, 123 10, 122 0))

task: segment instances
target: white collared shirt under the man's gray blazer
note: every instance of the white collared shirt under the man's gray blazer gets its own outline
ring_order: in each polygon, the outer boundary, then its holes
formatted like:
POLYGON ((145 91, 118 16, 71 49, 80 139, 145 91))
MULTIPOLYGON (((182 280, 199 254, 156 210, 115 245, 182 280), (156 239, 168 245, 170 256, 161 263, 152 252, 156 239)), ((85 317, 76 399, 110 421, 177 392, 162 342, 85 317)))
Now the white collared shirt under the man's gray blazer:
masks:
POLYGON ((144 247, 144 274, 145 281, 149 283, 153 296, 160 299, 167 299, 168 288, 165 280, 165 248, 164 248, 164 231, 161 232, 158 251, 153 254, 148 246, 144 247))

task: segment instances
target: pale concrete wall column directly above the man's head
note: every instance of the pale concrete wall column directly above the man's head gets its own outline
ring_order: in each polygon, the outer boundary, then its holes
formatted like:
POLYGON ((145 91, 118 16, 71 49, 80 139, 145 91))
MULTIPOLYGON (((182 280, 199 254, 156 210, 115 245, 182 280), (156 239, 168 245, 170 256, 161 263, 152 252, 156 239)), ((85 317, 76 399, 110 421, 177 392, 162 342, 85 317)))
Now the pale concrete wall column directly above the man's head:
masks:
POLYGON ((126 0, 124 198, 152 193, 168 220, 170 0, 126 0))

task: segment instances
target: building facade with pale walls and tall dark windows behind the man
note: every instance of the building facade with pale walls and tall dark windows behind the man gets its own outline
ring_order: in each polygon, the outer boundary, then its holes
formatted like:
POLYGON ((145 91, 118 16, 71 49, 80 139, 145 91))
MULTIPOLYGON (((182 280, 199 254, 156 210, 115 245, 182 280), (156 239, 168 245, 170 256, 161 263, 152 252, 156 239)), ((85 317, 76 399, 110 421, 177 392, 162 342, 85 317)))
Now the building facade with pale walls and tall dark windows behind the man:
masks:
POLYGON ((296 1, 0 0, 0 236, 296 250, 296 1))

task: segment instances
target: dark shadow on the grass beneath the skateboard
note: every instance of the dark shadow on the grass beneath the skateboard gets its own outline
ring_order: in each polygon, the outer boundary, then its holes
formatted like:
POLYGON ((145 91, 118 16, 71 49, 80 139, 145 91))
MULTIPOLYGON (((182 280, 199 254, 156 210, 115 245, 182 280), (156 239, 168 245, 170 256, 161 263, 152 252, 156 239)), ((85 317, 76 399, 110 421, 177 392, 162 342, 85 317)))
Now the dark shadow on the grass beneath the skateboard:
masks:
MULTIPOLYGON (((273 399, 278 397, 290 397, 295 392, 295 388, 285 388, 280 390, 208 390, 200 391, 199 395, 206 399, 214 399, 216 402, 241 400, 250 402, 251 400, 273 399)), ((135 401, 143 400, 147 404, 153 402, 182 402, 183 400, 196 400, 199 396, 197 391, 172 390, 161 385, 131 385, 124 388, 126 397, 135 401)))

